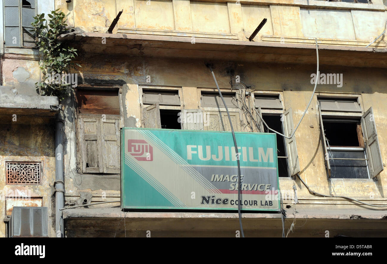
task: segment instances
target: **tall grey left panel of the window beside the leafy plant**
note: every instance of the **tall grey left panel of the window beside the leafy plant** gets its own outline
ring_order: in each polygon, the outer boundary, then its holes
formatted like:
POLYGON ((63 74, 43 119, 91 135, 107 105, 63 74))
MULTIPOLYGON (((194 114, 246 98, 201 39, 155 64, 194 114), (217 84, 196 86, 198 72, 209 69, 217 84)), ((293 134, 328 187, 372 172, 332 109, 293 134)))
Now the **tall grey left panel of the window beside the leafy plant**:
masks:
POLYGON ((4 1, 5 46, 20 47, 20 0, 4 1))

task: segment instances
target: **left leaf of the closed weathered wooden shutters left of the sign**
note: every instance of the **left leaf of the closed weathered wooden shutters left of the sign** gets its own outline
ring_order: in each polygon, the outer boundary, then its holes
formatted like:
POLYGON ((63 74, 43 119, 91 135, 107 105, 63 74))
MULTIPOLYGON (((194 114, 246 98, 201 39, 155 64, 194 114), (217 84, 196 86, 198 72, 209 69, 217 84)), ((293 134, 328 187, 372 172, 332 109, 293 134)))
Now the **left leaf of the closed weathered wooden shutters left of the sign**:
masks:
POLYGON ((102 173, 101 119, 78 118, 82 173, 102 173))

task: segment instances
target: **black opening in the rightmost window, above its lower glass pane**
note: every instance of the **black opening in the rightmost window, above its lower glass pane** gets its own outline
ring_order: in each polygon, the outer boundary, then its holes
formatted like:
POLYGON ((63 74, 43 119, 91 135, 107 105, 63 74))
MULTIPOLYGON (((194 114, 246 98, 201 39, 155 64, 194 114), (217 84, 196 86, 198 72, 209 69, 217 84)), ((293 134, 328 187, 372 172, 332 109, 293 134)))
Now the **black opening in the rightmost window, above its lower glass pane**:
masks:
POLYGON ((331 147, 364 147, 360 122, 323 120, 325 138, 331 147))

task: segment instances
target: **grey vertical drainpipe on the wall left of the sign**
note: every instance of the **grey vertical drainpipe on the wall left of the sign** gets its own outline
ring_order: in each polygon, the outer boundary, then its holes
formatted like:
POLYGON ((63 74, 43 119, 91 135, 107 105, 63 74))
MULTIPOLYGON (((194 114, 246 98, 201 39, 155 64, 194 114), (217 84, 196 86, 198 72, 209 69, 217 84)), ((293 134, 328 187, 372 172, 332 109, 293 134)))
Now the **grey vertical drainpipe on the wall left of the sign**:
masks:
POLYGON ((65 187, 63 182, 63 111, 57 114, 55 120, 55 235, 64 237, 65 226, 60 209, 65 206, 65 187))

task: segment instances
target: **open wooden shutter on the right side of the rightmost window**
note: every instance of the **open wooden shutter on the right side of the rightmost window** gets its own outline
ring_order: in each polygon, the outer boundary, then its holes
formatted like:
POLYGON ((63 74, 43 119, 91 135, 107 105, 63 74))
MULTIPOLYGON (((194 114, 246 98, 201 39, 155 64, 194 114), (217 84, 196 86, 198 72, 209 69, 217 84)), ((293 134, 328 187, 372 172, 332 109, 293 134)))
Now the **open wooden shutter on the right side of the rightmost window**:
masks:
POLYGON ((380 154, 378 134, 376 132, 375 118, 372 106, 361 116, 361 127, 366 144, 366 153, 372 177, 383 170, 383 160, 380 154))

